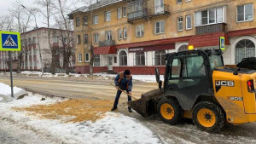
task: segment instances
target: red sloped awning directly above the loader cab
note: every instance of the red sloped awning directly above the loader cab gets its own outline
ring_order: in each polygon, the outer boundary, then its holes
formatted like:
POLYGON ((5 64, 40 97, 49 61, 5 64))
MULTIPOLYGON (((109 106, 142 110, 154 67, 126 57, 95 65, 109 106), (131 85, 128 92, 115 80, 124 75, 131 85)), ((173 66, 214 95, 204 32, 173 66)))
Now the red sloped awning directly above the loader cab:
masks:
POLYGON ((230 39, 224 32, 195 35, 189 40, 189 45, 194 45, 194 47, 215 46, 219 44, 219 37, 225 37, 225 44, 230 45, 230 39))

